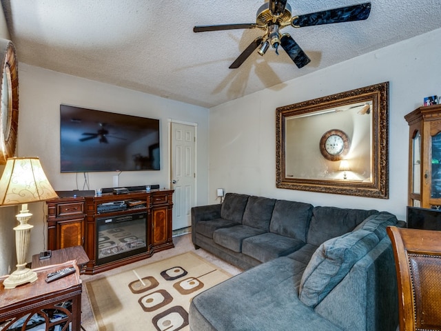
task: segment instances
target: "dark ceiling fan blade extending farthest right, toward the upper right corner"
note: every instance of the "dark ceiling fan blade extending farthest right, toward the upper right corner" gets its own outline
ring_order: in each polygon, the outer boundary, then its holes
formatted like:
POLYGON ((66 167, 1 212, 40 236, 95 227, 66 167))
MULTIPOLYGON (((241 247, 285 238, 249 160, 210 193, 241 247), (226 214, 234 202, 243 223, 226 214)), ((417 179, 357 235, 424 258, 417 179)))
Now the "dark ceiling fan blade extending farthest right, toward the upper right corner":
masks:
POLYGON ((313 12, 311 14, 294 17, 291 25, 294 28, 305 26, 319 26, 320 24, 342 23, 350 21, 361 21, 367 19, 371 12, 371 3, 313 12))

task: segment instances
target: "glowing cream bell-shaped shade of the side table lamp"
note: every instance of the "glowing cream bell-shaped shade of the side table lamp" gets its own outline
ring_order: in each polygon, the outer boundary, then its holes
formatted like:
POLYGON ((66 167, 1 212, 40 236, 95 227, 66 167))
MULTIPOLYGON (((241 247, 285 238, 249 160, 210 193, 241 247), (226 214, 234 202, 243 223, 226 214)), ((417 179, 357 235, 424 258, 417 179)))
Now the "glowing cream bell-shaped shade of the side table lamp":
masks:
POLYGON ((38 157, 12 157, 0 179, 0 205, 19 205, 57 198, 38 157))

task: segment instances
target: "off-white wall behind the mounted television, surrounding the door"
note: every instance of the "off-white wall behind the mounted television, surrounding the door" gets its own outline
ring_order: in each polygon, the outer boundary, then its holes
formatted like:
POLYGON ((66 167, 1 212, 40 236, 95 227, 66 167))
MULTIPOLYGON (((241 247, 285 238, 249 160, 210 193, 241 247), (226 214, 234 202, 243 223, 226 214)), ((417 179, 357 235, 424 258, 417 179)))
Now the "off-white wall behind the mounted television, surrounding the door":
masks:
MULTIPOLYGON (((84 188, 83 173, 60 172, 60 104, 132 114, 160 119, 161 170, 122 172, 120 186, 160 184, 170 188, 168 173, 168 120, 198 123, 198 203, 206 204, 208 180, 209 110, 151 94, 80 79, 43 68, 19 63, 19 139, 18 156, 37 156, 55 190, 111 188, 118 172, 89 172, 89 187, 84 188)), ((45 249, 45 203, 32 203, 34 215, 28 261, 45 249)))

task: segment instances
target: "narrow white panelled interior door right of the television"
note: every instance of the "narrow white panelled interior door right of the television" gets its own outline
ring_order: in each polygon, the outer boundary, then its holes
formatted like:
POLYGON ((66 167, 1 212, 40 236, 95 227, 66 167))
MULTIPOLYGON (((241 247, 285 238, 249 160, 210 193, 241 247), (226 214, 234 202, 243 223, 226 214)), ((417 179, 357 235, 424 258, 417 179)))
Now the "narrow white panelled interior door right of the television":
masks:
POLYGON ((191 210, 196 203, 195 126, 172 122, 171 187, 173 230, 192 225, 191 210))

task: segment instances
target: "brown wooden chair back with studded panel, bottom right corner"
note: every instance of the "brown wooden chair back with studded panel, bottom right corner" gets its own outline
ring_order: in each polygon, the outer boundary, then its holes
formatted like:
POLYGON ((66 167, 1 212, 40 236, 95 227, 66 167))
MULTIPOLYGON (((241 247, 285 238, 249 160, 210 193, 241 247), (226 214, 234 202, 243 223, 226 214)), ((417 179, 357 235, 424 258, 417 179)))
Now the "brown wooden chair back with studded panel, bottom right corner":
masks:
POLYGON ((441 231, 387 228, 398 279, 400 331, 441 330, 441 231))

